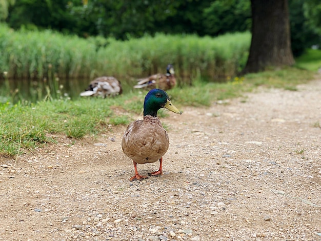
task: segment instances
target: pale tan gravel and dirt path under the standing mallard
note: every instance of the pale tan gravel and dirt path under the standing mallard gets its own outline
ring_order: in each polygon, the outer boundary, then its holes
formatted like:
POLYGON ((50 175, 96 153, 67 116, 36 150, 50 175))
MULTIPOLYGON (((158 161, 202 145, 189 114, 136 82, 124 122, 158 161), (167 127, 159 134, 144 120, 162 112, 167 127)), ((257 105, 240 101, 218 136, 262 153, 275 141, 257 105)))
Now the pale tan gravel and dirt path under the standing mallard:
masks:
POLYGON ((142 182, 125 127, 0 157, 0 240, 321 240, 321 81, 298 89, 170 113, 142 182))

